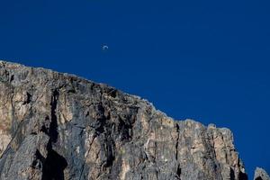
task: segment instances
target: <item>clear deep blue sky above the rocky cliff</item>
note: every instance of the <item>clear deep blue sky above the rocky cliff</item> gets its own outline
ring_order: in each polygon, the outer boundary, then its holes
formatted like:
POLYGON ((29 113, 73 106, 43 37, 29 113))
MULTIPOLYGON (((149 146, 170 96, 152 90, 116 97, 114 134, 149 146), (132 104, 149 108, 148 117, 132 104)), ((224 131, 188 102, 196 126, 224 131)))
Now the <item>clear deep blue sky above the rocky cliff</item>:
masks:
POLYGON ((263 0, 0 0, 0 58, 228 127, 253 177, 255 166, 270 172, 269 9, 263 0))

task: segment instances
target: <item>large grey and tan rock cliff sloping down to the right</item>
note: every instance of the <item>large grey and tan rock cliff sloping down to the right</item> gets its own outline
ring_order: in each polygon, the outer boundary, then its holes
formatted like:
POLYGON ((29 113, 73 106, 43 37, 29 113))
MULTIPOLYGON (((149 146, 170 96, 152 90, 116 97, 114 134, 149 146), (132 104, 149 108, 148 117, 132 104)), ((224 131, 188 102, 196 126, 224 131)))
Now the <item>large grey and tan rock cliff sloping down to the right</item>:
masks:
POLYGON ((245 180, 228 129, 110 86, 0 61, 1 180, 245 180))

